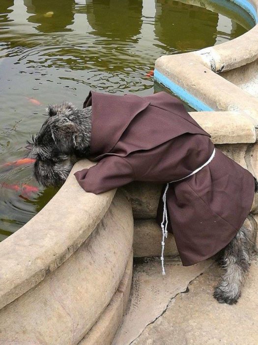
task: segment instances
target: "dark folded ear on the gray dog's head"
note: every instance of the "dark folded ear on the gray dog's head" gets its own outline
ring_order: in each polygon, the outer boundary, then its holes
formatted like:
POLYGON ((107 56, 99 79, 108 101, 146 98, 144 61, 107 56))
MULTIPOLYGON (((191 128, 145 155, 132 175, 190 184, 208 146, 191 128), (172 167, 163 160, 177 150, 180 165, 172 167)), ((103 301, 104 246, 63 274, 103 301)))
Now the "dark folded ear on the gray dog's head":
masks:
POLYGON ((72 153, 80 137, 79 127, 67 117, 58 116, 50 129, 58 149, 62 153, 72 153))

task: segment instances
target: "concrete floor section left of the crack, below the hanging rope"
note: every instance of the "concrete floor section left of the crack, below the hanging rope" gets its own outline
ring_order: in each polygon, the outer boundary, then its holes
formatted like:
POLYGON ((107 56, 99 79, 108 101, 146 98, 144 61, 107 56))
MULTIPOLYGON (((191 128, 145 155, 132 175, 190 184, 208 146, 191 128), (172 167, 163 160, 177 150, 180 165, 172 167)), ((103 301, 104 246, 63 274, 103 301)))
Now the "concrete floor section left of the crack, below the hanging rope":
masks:
POLYGON ((166 259, 166 276, 162 276, 160 260, 136 265, 131 301, 113 345, 131 344, 148 324, 166 310, 170 301, 185 291, 189 282, 211 264, 212 260, 207 260, 191 267, 183 267, 180 260, 166 259))

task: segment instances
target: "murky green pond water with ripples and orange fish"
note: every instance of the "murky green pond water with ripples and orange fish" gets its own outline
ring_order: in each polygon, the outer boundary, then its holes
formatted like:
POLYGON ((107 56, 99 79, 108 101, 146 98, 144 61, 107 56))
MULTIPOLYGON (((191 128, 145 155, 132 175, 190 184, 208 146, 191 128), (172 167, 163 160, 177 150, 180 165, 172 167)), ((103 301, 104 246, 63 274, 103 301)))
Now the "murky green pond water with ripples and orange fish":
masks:
POLYGON ((228 41, 254 24, 239 9, 193 3, 0 0, 0 241, 57 192, 37 185, 31 165, 6 165, 25 156, 48 104, 81 107, 90 89, 152 94, 159 56, 228 41))

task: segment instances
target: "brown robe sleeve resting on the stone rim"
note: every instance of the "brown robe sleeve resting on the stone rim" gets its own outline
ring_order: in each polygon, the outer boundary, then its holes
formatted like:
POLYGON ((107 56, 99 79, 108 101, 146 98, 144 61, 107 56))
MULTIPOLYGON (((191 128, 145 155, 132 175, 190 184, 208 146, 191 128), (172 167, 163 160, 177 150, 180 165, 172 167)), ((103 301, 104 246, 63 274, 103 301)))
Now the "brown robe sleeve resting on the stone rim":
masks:
POLYGON ((94 194, 107 192, 134 181, 134 171, 123 157, 108 156, 97 165, 74 173, 80 186, 94 194))

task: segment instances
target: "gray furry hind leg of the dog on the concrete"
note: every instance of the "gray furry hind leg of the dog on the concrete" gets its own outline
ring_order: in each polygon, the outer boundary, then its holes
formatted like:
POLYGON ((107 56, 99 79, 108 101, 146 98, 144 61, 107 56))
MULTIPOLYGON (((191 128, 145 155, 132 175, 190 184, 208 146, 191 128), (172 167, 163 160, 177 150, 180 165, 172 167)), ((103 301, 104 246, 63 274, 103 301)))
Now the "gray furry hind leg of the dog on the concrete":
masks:
POLYGON ((240 297, 253 254, 254 243, 251 239, 251 231, 242 226, 224 248, 221 266, 225 273, 213 294, 219 303, 234 304, 240 297))

